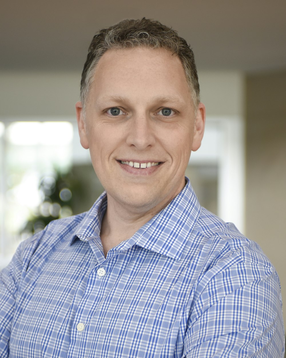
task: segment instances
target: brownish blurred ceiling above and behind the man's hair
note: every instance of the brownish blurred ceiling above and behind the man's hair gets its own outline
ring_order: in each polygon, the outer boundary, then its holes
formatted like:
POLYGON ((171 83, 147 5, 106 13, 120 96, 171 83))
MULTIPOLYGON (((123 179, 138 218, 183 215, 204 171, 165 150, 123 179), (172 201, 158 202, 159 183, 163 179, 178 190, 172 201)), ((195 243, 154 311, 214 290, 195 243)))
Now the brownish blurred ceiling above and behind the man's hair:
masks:
POLYGON ((98 29, 143 16, 176 29, 200 70, 286 68, 285 0, 2 0, 0 70, 81 71, 98 29))

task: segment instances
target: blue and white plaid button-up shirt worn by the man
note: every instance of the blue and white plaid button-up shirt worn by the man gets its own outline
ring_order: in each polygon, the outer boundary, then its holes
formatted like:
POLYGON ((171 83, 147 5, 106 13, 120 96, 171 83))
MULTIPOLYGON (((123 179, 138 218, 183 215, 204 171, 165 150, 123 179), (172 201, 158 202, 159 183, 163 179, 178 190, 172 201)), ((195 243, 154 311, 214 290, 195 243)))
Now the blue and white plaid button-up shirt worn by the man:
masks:
POLYGON ((104 257, 106 194, 1 272, 0 357, 283 357, 277 273, 189 181, 104 257))

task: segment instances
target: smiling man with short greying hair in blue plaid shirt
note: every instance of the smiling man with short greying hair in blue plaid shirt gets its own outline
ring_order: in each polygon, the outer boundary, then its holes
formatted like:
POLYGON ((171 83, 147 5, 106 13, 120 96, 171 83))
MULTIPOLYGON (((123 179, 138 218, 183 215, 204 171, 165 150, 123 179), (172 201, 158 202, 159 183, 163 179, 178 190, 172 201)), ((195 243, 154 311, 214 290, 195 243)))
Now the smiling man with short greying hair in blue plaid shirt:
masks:
POLYGON ((184 177, 205 123, 186 41, 147 19, 102 30, 76 110, 106 192, 1 273, 0 357, 282 357, 275 269, 184 177))

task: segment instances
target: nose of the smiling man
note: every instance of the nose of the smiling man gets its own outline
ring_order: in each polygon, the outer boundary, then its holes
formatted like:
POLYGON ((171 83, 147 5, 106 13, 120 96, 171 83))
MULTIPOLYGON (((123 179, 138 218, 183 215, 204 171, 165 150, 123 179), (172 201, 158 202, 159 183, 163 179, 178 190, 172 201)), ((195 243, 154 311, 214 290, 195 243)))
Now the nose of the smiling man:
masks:
POLYGON ((134 115, 129 120, 128 135, 126 142, 138 150, 144 150, 154 145, 155 136, 151 118, 146 114, 134 115))

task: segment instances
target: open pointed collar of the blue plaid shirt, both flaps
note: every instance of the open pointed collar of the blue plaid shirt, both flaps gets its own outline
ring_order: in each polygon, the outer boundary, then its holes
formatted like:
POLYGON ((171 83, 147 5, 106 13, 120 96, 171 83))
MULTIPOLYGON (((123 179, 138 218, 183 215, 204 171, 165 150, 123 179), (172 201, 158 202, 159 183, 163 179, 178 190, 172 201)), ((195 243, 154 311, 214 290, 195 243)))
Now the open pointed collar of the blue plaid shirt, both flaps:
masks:
MULTIPOLYGON (((87 212, 78 228, 76 236, 80 240, 87 241, 90 238, 99 238, 100 225, 106 207, 107 197, 104 192, 87 212)), ((135 244, 179 260, 200 211, 201 206, 189 179, 186 177, 185 187, 167 207, 143 225, 129 240, 123 241, 114 250, 127 250, 135 244)))

